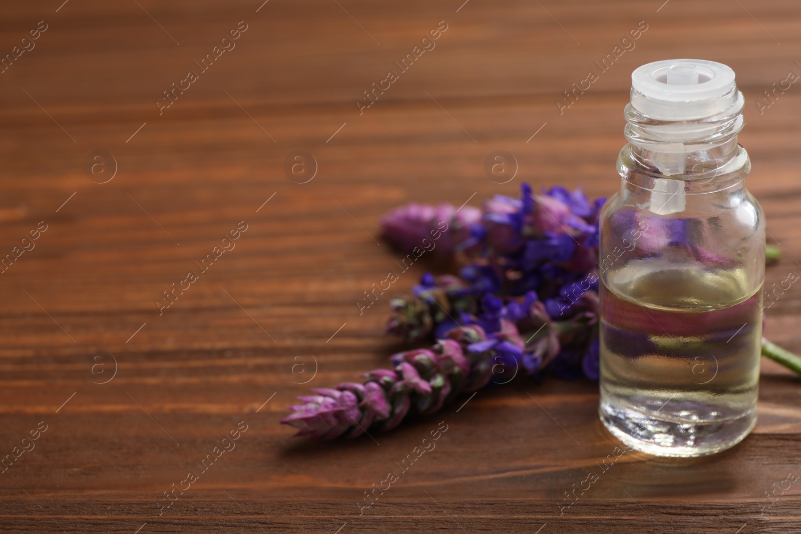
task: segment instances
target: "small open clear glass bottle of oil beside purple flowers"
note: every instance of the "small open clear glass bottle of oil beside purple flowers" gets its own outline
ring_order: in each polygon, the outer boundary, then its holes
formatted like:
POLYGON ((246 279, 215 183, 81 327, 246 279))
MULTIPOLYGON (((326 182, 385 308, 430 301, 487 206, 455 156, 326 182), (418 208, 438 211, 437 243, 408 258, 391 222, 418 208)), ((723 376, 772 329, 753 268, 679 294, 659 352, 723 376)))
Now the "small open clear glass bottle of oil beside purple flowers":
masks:
POLYGON ((600 220, 599 413, 639 451, 702 456, 756 423, 765 223, 737 143, 744 99, 718 62, 648 63, 631 81, 600 220))

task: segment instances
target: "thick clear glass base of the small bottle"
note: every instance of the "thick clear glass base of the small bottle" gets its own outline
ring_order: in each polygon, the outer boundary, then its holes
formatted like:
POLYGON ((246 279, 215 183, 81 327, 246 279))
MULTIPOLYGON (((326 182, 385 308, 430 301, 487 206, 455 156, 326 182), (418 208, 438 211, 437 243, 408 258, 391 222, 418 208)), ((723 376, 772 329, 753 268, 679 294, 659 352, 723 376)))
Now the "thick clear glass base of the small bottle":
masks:
POLYGON ((756 407, 742 416, 713 420, 698 414, 693 421, 667 419, 626 405, 602 390, 598 415, 627 446, 654 456, 707 456, 739 444, 756 424, 756 407))

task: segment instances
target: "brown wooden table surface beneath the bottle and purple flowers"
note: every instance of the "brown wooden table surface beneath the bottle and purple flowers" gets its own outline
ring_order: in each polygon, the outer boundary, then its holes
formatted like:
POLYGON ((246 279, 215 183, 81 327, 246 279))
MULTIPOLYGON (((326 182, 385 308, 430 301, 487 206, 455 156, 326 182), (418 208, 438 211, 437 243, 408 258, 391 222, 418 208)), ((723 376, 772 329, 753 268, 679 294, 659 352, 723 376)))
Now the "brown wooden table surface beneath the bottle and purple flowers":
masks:
MULTIPOLYGON (((801 484, 766 496, 801 472, 801 383, 767 363, 743 444, 702 460, 628 453, 570 508, 565 492, 616 444, 594 383, 516 379, 375 440, 314 444, 278 424, 295 395, 399 347, 381 333, 387 307, 356 306, 394 268, 382 213, 478 205, 521 180, 610 194, 630 72, 646 62, 735 69, 750 188, 784 251, 767 285, 801 268, 801 87, 770 107, 763 94, 801 73, 797 2, 262 1, 0 8, 2 54, 20 47, 0 74, 0 252, 34 247, 0 275, 0 454, 38 432, 0 473, 2 532, 801 529, 801 484), (401 70, 418 44, 431 50, 401 70), (517 159, 509 183, 485 175, 495 150, 517 159), (306 183, 284 171, 295 151, 316 161, 306 183), (200 271, 238 225, 235 249, 200 271), (202 274, 166 307, 188 271, 202 274), (360 515, 441 421, 436 450, 360 515), (159 515, 189 471, 202 474, 159 515)), ((421 263, 395 290, 446 268, 421 263)), ((767 334, 795 351, 799 291, 767 311, 767 334)))

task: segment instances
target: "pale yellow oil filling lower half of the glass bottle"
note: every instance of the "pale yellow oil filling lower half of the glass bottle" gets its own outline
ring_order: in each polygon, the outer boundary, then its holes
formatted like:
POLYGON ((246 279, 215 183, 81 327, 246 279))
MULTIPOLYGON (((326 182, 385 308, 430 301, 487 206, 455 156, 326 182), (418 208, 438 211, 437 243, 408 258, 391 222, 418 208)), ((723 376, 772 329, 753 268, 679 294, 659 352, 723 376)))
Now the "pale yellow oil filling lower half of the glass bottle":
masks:
POLYGON ((756 423, 762 287, 743 270, 635 260, 601 283, 601 404, 618 439, 702 456, 756 423))

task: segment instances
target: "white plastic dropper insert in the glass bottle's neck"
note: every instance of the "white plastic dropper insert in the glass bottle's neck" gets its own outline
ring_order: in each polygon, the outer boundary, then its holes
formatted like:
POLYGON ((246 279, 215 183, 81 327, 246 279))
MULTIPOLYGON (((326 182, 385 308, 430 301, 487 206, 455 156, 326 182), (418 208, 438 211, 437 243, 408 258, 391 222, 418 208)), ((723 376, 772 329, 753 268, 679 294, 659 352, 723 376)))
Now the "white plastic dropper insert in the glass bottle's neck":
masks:
MULTIPOLYGON (((647 63, 631 73, 631 86, 631 106, 635 110, 650 118, 669 122, 711 117, 735 105, 739 95, 735 71, 723 63, 703 59, 647 63)), ((681 127, 666 129, 666 136, 672 143, 667 143, 666 151, 660 152, 654 162, 663 175, 683 175, 686 171, 682 133, 681 127)), ((654 180, 651 211, 669 215, 684 211, 685 205, 681 180, 654 180)))

